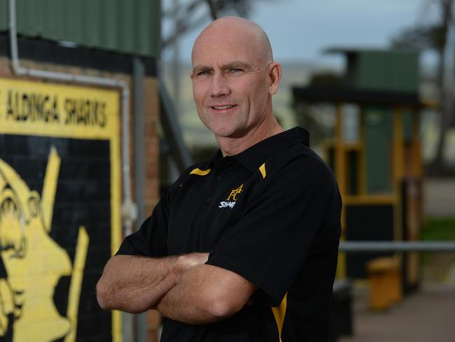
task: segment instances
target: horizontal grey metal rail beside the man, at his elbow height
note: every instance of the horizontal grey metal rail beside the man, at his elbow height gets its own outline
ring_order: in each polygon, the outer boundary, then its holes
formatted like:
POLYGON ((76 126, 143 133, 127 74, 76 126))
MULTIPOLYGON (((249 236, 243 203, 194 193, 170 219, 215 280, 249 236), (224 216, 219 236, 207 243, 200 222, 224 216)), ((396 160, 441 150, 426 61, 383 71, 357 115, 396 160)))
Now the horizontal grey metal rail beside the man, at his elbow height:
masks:
POLYGON ((455 241, 342 241, 340 252, 455 252, 455 241))

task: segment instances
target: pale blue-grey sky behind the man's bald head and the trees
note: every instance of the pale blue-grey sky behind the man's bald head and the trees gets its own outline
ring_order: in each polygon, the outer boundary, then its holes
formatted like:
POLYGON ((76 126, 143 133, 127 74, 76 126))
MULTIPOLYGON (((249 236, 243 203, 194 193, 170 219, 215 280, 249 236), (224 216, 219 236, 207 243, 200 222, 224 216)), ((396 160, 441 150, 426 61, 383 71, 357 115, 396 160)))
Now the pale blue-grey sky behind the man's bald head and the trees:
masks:
MULTIPOLYGON (((163 1, 167 8, 176 0, 163 1)), ((323 55, 324 48, 386 48, 403 28, 436 18, 435 9, 424 4, 428 0, 255 0, 249 19, 269 35, 275 60, 330 63, 336 57, 323 55)), ((189 62, 193 42, 208 23, 209 18, 181 39, 182 61, 189 62)))

